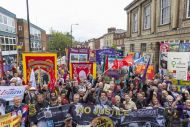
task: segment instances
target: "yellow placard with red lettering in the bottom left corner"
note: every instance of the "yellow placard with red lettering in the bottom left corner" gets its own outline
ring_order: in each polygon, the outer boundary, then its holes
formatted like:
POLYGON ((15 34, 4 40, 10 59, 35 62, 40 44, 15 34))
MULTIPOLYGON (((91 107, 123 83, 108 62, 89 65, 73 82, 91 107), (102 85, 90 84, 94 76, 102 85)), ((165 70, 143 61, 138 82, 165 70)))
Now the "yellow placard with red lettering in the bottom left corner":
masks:
POLYGON ((0 127, 20 127, 21 116, 12 116, 11 113, 0 116, 0 127))

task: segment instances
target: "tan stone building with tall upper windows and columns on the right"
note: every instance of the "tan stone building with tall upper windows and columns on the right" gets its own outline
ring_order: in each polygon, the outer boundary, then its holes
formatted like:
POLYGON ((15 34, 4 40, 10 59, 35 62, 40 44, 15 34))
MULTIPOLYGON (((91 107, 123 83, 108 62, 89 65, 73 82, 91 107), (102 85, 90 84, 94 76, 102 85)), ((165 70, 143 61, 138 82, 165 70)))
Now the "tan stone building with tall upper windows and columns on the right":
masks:
POLYGON ((134 0, 126 8, 125 51, 153 54, 158 69, 160 42, 189 42, 190 0, 134 0))

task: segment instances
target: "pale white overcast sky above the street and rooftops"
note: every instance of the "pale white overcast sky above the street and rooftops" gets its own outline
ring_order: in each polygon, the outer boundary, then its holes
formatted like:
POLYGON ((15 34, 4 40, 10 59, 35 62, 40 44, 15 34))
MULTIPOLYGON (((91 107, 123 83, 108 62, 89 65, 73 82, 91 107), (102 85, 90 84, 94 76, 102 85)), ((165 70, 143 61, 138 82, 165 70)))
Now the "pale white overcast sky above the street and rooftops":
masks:
MULTIPOLYGON (((50 30, 70 32, 76 41, 101 37, 107 28, 126 30, 124 8, 133 0, 28 0, 31 23, 50 30)), ((0 0, 0 6, 27 19, 26 0, 0 0)))

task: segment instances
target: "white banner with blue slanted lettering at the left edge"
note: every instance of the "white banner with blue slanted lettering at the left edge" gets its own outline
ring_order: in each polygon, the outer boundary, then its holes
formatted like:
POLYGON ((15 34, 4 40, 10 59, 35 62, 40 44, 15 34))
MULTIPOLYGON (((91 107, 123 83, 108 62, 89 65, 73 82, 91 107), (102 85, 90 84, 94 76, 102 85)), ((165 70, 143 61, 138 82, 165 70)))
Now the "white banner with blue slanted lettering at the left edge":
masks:
POLYGON ((0 86, 0 98, 12 101, 15 96, 24 97, 24 86, 0 86))

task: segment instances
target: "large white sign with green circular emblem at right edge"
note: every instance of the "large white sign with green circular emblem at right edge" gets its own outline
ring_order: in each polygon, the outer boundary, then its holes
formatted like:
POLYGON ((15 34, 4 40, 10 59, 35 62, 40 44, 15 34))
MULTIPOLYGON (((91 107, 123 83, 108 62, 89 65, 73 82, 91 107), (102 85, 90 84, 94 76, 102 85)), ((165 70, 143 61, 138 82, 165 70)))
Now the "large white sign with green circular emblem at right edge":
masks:
POLYGON ((168 70, 177 80, 188 80, 189 52, 169 52, 168 70))

